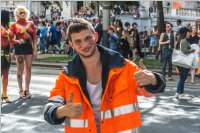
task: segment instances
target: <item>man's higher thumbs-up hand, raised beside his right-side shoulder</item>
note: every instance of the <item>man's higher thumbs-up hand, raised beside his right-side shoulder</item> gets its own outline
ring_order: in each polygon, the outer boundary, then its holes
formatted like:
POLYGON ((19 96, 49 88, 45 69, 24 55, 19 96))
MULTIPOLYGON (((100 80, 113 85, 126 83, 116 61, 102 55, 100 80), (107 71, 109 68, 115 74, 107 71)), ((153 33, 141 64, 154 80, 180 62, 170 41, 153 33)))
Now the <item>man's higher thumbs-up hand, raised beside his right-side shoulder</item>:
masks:
POLYGON ((139 61, 139 66, 142 69, 134 74, 135 81, 139 84, 139 86, 143 87, 145 85, 156 85, 157 79, 155 75, 146 69, 145 65, 143 64, 143 60, 141 59, 139 61))

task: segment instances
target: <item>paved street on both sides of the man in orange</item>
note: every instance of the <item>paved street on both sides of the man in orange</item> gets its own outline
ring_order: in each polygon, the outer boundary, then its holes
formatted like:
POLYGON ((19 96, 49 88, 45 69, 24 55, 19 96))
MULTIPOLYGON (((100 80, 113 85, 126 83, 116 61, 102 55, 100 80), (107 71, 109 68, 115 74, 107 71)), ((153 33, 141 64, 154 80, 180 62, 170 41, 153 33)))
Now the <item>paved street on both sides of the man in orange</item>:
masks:
MULTIPOLYGON (((63 133, 62 125, 52 126, 43 120, 43 106, 59 69, 34 67, 32 99, 19 100, 15 66, 9 75, 8 95, 11 104, 1 108, 2 133, 63 133)), ((164 94, 147 99, 139 98, 142 110, 142 133, 199 133, 200 131, 200 81, 186 83, 185 99, 177 100, 175 82, 168 82, 164 94)))

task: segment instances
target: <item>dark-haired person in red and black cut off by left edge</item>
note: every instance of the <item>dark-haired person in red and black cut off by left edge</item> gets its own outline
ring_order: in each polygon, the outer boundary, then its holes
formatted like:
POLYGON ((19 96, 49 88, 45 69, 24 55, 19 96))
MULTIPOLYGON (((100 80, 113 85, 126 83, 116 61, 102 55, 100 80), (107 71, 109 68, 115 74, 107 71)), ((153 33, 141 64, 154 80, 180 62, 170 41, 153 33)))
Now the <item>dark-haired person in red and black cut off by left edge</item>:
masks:
POLYGON ((1 10, 1 77, 2 77, 2 101, 10 103, 10 99, 7 96, 8 86, 8 73, 10 68, 10 36, 8 30, 9 12, 1 10))

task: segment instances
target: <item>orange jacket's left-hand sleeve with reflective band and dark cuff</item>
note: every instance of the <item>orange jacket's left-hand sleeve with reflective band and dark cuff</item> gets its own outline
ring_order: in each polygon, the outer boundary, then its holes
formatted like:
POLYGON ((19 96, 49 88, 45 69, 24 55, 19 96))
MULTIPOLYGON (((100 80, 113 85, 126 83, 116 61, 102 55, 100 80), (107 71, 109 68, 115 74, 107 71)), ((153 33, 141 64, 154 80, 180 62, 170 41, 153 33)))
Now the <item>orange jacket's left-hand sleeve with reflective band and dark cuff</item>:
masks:
POLYGON ((65 89, 64 89, 64 79, 61 73, 57 80, 55 87, 50 91, 50 96, 48 98, 47 104, 44 107, 44 119, 50 124, 61 124, 65 118, 57 119, 56 110, 59 106, 65 104, 65 89))

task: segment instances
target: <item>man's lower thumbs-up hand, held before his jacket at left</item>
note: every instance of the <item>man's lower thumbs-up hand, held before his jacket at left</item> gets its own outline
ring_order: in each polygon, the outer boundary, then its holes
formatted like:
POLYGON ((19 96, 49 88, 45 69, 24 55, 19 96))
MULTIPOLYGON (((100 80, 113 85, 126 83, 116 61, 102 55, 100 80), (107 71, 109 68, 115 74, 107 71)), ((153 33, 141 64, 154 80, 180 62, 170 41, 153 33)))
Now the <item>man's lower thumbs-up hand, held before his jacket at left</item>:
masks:
POLYGON ((82 114, 83 106, 81 103, 72 103, 74 98, 74 93, 70 93, 70 97, 67 104, 59 107, 56 112, 58 119, 63 117, 77 118, 82 114))

